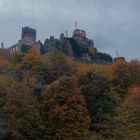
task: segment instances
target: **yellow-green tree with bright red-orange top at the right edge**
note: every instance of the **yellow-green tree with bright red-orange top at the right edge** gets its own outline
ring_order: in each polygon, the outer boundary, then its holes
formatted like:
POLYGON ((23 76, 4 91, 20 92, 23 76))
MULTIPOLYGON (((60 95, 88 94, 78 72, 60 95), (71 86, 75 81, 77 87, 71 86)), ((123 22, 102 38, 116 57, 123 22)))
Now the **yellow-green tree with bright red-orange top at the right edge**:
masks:
POLYGON ((140 87, 129 87, 128 96, 117 108, 114 135, 116 139, 140 139, 140 87))

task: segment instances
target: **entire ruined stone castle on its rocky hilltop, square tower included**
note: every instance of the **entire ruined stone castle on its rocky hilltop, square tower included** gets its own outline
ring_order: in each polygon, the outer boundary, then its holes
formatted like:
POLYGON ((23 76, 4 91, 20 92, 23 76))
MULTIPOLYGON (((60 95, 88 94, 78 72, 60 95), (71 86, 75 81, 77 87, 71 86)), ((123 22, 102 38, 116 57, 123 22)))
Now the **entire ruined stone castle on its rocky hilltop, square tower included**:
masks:
POLYGON ((36 47, 42 55, 47 55, 52 50, 59 50, 66 56, 77 61, 99 64, 110 64, 113 58, 106 53, 99 52, 92 39, 87 38, 86 31, 74 29, 72 37, 64 33, 56 39, 51 36, 44 43, 36 41, 36 29, 23 27, 21 39, 15 45, 9 47, 10 52, 21 51, 27 53, 32 47, 36 47))

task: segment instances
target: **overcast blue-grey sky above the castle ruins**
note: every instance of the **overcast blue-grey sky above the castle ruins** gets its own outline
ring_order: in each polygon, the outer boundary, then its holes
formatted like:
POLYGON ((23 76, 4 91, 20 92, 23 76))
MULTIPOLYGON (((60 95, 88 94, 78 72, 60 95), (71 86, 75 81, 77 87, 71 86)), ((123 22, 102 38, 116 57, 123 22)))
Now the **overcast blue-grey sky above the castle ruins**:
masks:
POLYGON ((44 40, 68 30, 87 31, 98 51, 140 59, 140 0, 0 0, 0 41, 17 43, 21 28, 37 29, 44 40))

